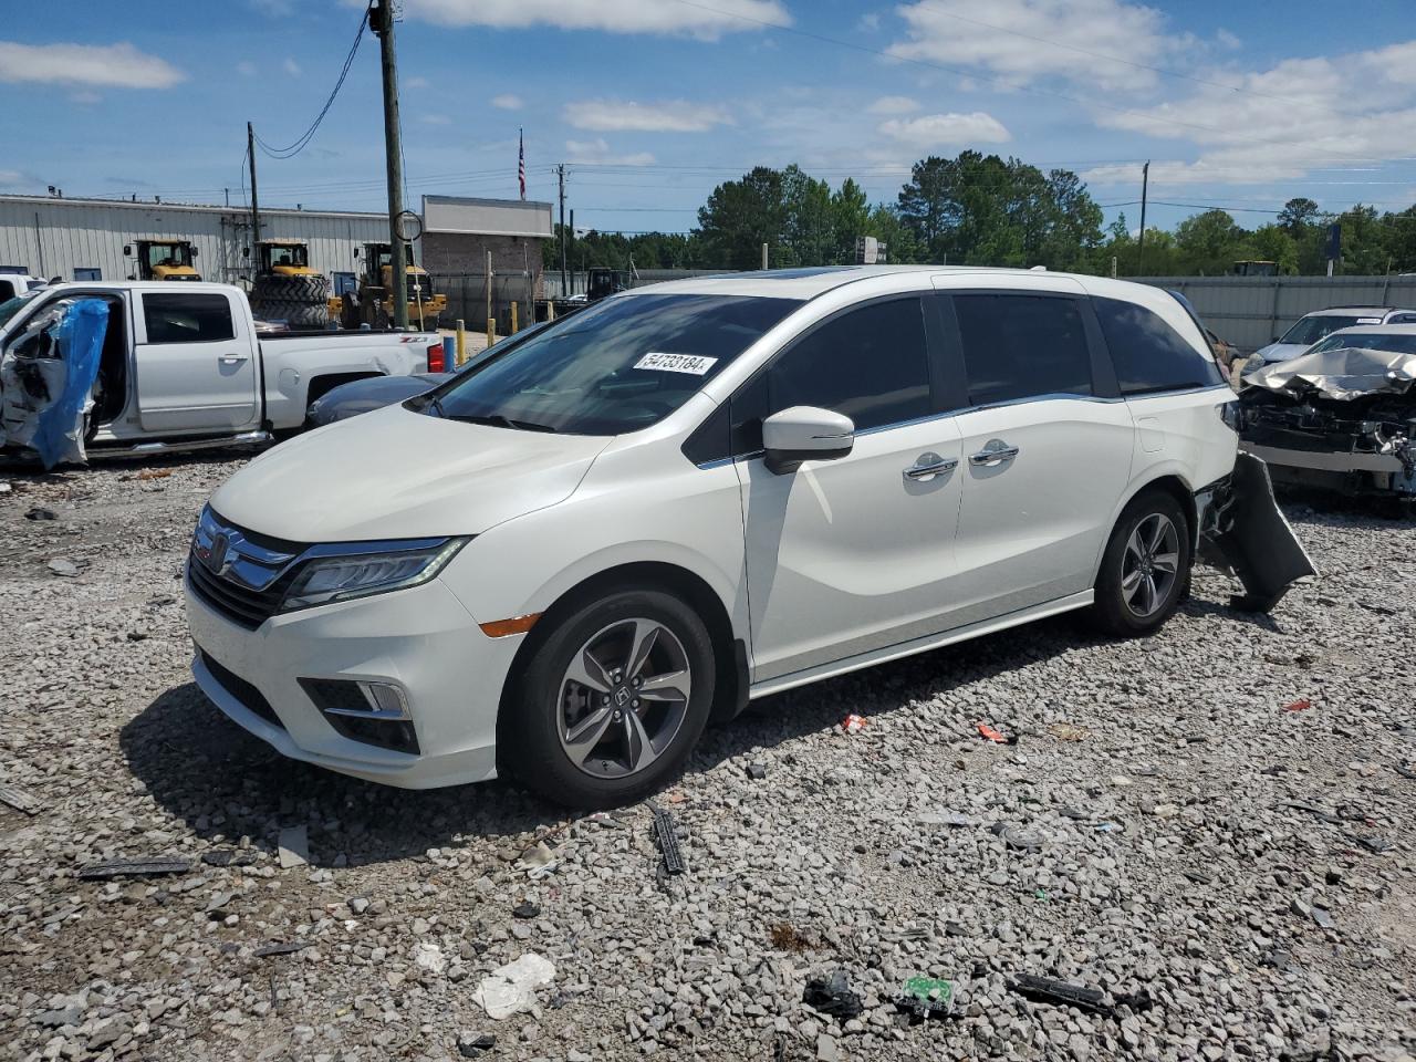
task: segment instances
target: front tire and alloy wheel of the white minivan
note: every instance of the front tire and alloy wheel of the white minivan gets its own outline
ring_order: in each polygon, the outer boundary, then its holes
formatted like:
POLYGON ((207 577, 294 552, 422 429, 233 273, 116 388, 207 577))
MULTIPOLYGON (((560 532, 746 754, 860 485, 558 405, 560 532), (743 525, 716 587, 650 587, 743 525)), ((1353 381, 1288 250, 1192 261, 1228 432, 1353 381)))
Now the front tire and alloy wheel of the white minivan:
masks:
POLYGON ((698 613, 671 593, 626 588, 547 620, 555 626, 535 632, 503 708, 510 773, 583 809, 630 803, 677 777, 714 701, 715 651, 698 613))

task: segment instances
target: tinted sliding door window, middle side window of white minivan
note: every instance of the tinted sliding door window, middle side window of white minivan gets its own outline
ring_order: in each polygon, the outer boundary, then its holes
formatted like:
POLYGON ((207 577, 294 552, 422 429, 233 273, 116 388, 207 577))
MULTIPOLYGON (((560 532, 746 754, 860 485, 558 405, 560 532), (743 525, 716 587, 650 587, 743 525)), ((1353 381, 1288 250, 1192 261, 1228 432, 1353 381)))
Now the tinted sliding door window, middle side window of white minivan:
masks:
POLYGON ((1076 299, 956 295, 971 405, 1090 395, 1092 353, 1076 299))

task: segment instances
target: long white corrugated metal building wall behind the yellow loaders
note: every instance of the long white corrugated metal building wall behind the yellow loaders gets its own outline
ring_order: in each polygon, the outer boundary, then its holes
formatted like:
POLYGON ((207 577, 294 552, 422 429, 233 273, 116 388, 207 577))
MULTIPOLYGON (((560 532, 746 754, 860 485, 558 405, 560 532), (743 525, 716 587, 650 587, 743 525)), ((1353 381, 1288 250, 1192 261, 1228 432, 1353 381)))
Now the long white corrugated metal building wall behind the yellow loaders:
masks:
MULTIPOLYGON (((261 211, 261 235, 309 241, 310 265, 321 273, 357 272, 354 248, 387 242, 388 221, 272 210, 261 211)), ((133 269, 123 245, 161 236, 193 241, 197 272, 207 280, 234 282, 248 266, 241 252, 251 241, 251 215, 222 207, 0 195, 0 265, 25 266, 44 279, 72 280, 75 269, 101 269, 102 279, 120 280, 133 269)))

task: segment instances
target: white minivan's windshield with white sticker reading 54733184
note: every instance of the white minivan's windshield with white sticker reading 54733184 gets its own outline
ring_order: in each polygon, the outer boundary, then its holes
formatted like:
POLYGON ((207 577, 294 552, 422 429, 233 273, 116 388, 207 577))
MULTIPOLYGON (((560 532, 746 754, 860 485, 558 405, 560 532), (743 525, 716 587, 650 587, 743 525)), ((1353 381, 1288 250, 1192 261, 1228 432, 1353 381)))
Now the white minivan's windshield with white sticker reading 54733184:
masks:
POLYGON ((661 421, 800 306, 794 299, 610 299, 487 358, 411 408, 452 421, 622 435, 661 421))

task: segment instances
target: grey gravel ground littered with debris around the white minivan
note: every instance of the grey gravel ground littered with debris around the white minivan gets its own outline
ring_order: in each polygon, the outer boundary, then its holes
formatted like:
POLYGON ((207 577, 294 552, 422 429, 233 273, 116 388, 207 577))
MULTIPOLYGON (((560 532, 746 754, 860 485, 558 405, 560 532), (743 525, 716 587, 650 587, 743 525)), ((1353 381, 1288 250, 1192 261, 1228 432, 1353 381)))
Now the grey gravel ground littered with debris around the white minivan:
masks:
POLYGON ((1290 506, 1324 575, 1272 619, 1201 571, 1146 641, 1061 617, 758 702, 658 797, 688 872, 657 884, 649 806, 381 789, 210 707, 178 573, 238 466, 0 473, 0 783, 37 800, 0 806, 4 1058, 1410 1061, 1412 524, 1290 506), (76 877, 119 857, 193 865, 76 877), (554 978, 493 1021, 524 954, 554 978), (835 970, 855 1018, 803 1003, 835 970), (920 974, 952 1017, 895 1011, 920 974))

